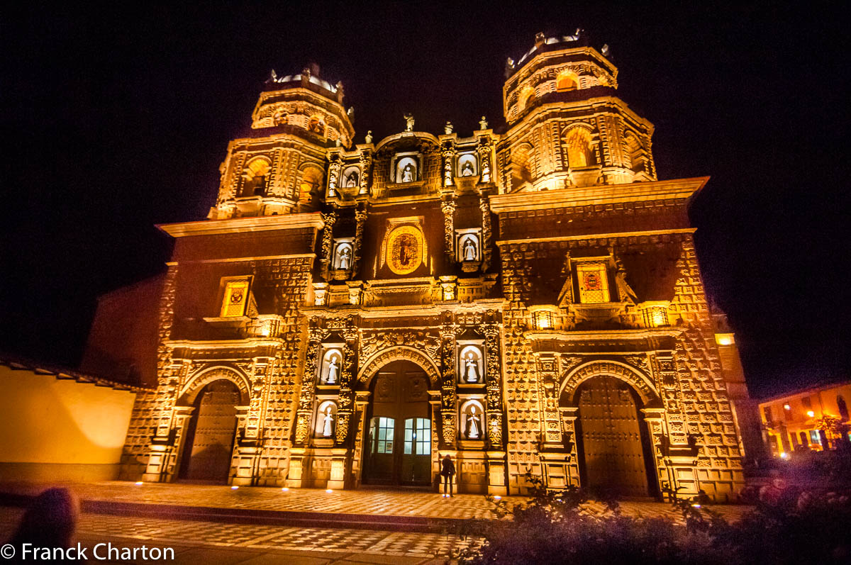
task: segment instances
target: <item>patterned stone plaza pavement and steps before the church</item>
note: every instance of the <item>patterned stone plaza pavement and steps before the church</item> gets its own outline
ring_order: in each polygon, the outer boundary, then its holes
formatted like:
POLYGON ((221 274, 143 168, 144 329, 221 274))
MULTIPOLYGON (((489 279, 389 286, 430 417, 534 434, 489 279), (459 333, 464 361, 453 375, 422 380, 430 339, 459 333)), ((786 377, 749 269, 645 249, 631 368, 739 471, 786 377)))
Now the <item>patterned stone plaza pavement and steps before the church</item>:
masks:
MULTIPOLYGON (((0 484, 0 537, 9 539, 23 512, 20 506, 47 486, 0 484)), ((285 491, 132 482, 63 486, 83 502, 77 528, 83 546, 109 542, 121 547, 171 547, 175 562, 204 565, 435 565, 481 543, 453 534, 454 527, 470 518, 494 518, 493 505, 477 494, 444 499, 433 493, 365 489, 285 491)), ((524 499, 505 500, 517 504, 524 499)), ((680 517, 671 505, 656 502, 624 502, 621 508, 632 516, 680 517)), ((713 509, 736 520, 748 507, 713 509)))

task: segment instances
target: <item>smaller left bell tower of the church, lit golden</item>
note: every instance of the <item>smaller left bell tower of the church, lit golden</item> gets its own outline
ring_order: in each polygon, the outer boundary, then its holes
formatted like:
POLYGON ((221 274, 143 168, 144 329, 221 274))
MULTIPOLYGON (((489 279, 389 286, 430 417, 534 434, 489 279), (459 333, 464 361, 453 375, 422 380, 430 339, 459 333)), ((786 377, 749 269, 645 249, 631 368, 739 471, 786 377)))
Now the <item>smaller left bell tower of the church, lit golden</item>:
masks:
POLYGON ((266 80, 247 137, 232 140, 221 164, 219 197, 210 220, 270 216, 317 209, 328 147, 351 146, 351 109, 343 85, 300 74, 266 80))

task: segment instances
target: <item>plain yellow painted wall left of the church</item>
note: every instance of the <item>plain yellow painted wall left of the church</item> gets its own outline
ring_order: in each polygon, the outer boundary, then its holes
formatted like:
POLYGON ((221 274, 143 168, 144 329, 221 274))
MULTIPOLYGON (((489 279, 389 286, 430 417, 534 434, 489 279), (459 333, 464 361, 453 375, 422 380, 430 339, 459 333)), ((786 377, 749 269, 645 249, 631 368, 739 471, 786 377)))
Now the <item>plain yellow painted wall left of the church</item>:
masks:
POLYGON ((50 478, 80 478, 89 465, 95 475, 110 474, 121 459, 135 397, 0 365, 0 475, 15 478, 10 475, 44 466, 54 469, 50 478))

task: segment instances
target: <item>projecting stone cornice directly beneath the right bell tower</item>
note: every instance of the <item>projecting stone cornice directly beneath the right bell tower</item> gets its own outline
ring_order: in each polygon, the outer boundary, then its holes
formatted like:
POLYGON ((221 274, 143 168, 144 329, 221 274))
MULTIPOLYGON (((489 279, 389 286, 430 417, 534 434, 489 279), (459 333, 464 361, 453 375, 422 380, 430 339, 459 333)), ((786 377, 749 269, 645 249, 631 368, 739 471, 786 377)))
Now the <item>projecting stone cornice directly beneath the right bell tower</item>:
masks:
POLYGON ((489 199, 490 208, 495 214, 648 200, 676 200, 691 197, 695 192, 700 191, 708 180, 709 177, 695 177, 621 185, 594 185, 562 188, 556 191, 497 194, 489 199))

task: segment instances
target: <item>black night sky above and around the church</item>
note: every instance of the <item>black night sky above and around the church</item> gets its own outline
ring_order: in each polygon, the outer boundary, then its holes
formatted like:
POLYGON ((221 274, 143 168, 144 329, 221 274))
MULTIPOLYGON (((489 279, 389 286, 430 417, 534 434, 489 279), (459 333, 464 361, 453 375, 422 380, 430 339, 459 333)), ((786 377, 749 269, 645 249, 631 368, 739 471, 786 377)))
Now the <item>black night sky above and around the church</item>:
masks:
MULTIPOLYGON (((848 378, 847 14, 593 3, 4 9, 0 350, 75 366, 96 297, 163 270, 154 224, 202 220, 269 71, 342 81, 356 141, 501 118, 505 58, 585 29, 655 124, 751 394, 848 378), (28 10, 24 12, 23 10, 28 10)), ((135 3, 134 3, 135 4, 135 3)), ((841 3, 835 3, 835 6, 841 3)), ((770 6, 770 8, 769 8, 770 6)))

